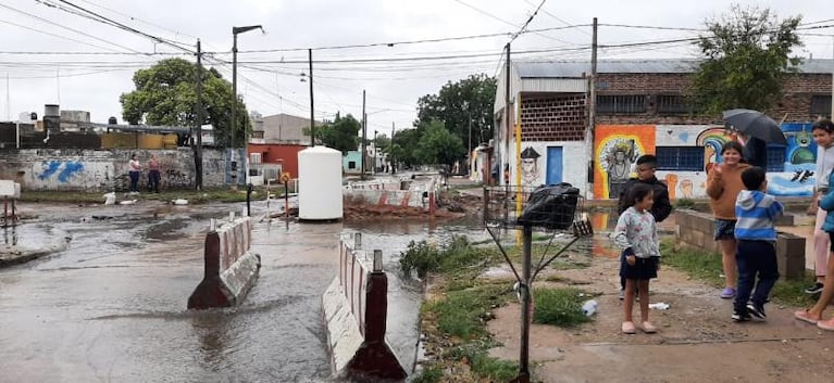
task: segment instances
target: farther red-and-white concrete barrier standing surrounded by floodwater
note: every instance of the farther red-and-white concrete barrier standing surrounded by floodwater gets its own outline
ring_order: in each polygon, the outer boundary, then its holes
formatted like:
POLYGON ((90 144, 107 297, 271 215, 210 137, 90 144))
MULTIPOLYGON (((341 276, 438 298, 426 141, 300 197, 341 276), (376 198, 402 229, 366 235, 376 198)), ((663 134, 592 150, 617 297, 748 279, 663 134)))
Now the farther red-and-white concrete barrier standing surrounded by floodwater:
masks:
POLYGON ((261 268, 261 257, 249 252, 251 239, 249 217, 225 222, 206 234, 206 272, 188 297, 189 309, 229 307, 244 301, 261 268))

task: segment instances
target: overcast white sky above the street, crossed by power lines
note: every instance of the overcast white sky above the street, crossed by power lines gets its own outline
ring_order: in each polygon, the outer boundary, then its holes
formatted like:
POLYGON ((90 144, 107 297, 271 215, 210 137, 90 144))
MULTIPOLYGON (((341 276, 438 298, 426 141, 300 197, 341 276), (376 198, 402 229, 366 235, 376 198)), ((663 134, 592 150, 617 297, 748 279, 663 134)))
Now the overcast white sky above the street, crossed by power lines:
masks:
MULTIPOLYGON (((310 115, 308 48, 313 49, 316 118, 361 115, 368 94, 369 130, 410 127, 416 100, 471 74, 496 75, 509 34, 521 29, 542 0, 0 0, 0 120, 43 104, 89 111, 94 122, 122 122, 120 94, 134 89, 135 71, 194 50, 201 39, 208 66, 232 78, 232 27, 238 35, 238 92, 263 115, 310 115), (84 10, 138 33, 94 21, 84 10), (481 37, 477 37, 481 36, 481 37), (360 47, 356 47, 360 46, 360 47), (353 47, 353 48, 351 48, 353 47), (7 80, 8 78, 8 80, 7 80), (8 91, 7 91, 8 90, 8 91)), ((739 1, 801 15, 808 26, 834 26, 826 1, 739 1)), ((589 60, 598 17, 600 60, 692 58, 687 42, 627 46, 697 36, 722 0, 546 0, 512 43, 513 60, 589 60), (620 26, 615 26, 620 25, 620 26), (623 26, 625 25, 625 26, 623 26), (626 27, 630 26, 630 27, 626 27), (643 27, 643 28, 640 28, 643 27), (645 27, 670 27, 645 28, 645 27), (623 47, 623 44, 626 44, 623 47), (617 47, 620 46, 620 47, 617 47)), ((804 30, 796 54, 831 59, 834 27, 804 30)), ((369 136, 372 135, 369 132, 369 136)))

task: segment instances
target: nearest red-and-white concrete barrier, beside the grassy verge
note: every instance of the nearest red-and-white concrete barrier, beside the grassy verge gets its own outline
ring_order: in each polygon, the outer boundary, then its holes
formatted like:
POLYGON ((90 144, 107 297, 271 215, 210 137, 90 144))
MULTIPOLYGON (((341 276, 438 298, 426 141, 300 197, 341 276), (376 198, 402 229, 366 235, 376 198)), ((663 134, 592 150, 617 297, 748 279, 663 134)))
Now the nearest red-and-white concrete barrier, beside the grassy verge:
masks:
POLYGON ((408 375, 385 341, 388 279, 382 252, 373 260, 361 250, 339 243, 339 275, 322 295, 331 366, 335 375, 359 381, 401 381, 408 375), (372 261, 372 265, 369 265, 372 261))

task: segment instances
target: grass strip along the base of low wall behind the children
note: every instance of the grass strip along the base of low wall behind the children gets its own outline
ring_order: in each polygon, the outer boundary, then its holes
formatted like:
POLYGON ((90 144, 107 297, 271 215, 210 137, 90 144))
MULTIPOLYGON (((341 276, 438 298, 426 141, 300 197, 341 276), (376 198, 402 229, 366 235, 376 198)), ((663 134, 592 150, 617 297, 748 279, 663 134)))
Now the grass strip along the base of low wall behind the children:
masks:
MULTIPOLYGON (((675 251, 674 241, 667 240, 660 243, 660 254, 663 255, 662 265, 672 266, 686 272, 689 277, 709 282, 720 288, 724 285, 724 279, 720 277, 722 272, 721 254, 710 253, 698 250, 681 248, 675 251)), ((805 288, 813 280, 812 272, 806 271, 806 279, 785 280, 780 278, 773 286, 770 295, 780 304, 804 307, 817 302, 816 295, 808 295, 802 292, 805 288)))

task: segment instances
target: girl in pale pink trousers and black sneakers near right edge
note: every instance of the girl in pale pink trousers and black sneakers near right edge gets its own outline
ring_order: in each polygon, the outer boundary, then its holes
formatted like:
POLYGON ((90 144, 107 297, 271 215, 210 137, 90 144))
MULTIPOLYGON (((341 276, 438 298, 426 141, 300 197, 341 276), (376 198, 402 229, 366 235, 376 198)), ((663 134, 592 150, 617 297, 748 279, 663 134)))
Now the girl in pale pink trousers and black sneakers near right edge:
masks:
MULTIPOLYGON (((817 201, 829 191, 829 175, 834 169, 834 123, 830 119, 821 119, 811 128, 813 140, 817 142, 817 173, 813 184, 817 201)), ((825 280, 825 269, 829 264, 831 241, 829 233, 822 231, 827 213, 817 207, 817 225, 813 230, 813 252, 816 254, 814 275, 817 281, 805 290, 808 294, 817 294, 822 291, 822 282, 825 280)))

